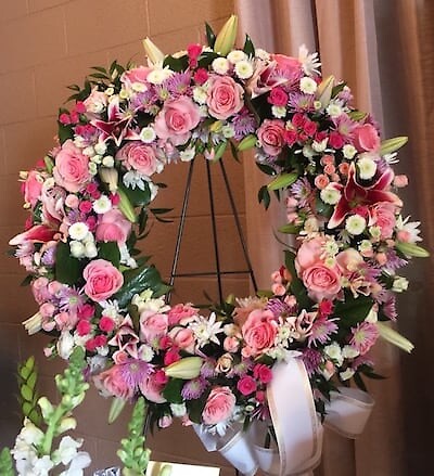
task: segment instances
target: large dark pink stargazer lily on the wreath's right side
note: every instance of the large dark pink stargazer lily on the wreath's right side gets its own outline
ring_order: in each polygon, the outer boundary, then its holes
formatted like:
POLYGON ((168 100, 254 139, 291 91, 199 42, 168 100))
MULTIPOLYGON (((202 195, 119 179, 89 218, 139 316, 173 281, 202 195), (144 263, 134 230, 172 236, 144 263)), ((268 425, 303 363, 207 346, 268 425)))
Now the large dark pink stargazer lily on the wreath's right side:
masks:
POLYGON ((393 170, 387 167, 379 177, 376 182, 369 186, 362 186, 357 183, 356 166, 354 163, 348 169, 348 179, 345 185, 332 183, 334 190, 341 192, 341 198, 334 207, 333 215, 330 218, 328 228, 333 229, 342 223, 344 218, 357 206, 375 205, 379 202, 388 202, 397 207, 403 206, 400 198, 392 192, 388 192, 394 179, 393 170))

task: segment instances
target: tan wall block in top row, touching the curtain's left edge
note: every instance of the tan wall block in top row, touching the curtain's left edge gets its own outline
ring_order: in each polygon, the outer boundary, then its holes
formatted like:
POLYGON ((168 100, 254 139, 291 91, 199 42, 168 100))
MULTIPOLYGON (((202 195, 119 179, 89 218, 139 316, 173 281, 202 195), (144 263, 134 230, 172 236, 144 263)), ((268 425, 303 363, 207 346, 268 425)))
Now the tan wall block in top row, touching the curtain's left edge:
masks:
POLYGON ((204 24, 212 20, 230 16, 233 0, 148 0, 150 34, 152 36, 204 24), (170 12, 168 14, 168 12, 170 12))

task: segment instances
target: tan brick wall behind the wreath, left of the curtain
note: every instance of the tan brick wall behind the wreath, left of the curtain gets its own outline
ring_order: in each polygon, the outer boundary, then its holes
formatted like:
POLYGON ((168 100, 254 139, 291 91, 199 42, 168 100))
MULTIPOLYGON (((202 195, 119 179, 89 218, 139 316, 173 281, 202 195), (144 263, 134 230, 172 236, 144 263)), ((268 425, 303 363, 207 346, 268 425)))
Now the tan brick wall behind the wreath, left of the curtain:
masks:
MULTIPOLYGON (((2 3, 0 13, 0 445, 13 445, 21 425, 16 404, 15 369, 17 361, 34 353, 40 368, 42 393, 52 395, 52 375, 62 371, 59 360, 47 361, 43 336, 28 337, 21 322, 36 311, 28 287, 21 287, 23 270, 5 255, 9 239, 21 231, 26 218, 16 182, 18 170, 30 168, 53 145, 58 107, 68 95, 65 86, 80 83, 94 65, 108 65, 113 59, 143 61, 140 40, 152 37, 166 52, 202 41, 203 23, 218 29, 233 11, 233 0, 14 0, 2 3)), ((242 167, 227 160, 242 221, 244 189, 242 167)), ((181 249, 180 271, 212 268, 209 207, 204 164, 197 165, 190 201, 186 239, 181 249)), ((220 232, 222 267, 243 267, 241 248, 234 232, 219 169, 216 179, 217 226, 220 232)), ((163 274, 169 272, 178 226, 187 166, 174 165, 163 175, 168 189, 156 206, 174 207, 169 224, 157 223, 143 244, 153 255, 163 274)), ((175 299, 203 300, 203 291, 214 297, 212 279, 184 279, 177 283, 175 299)), ((225 292, 245 295, 247 281, 234 276, 225 282, 225 292)), ((92 453, 92 468, 116 464, 116 441, 126 430, 126 417, 108 427, 108 402, 92 390, 77 412, 78 434, 86 438, 92 453)), ((155 459, 207 461, 209 458, 192 434, 174 427, 150 439, 155 459), (191 438, 190 438, 191 436, 191 438)), ((91 474, 89 471, 88 474, 91 474)), ((228 468, 225 474, 233 474, 228 468)))

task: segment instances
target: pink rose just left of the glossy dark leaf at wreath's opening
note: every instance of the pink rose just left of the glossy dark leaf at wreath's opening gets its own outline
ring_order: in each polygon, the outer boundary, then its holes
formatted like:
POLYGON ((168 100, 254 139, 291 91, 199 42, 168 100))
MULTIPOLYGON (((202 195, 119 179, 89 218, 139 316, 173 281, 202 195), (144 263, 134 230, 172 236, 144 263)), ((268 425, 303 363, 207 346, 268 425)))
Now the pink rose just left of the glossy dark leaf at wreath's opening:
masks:
POLYGON ((90 261, 84 269, 85 293, 94 301, 108 299, 124 284, 122 272, 105 259, 90 261))

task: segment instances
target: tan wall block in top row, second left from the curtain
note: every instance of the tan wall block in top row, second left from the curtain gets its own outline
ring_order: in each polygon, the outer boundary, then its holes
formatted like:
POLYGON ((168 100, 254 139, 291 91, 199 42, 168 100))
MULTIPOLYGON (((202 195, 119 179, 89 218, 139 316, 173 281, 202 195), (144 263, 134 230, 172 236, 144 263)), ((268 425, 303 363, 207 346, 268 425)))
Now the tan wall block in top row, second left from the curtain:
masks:
POLYGON ((107 49, 148 34, 142 0, 78 0, 67 3, 65 11, 69 54, 107 49))

